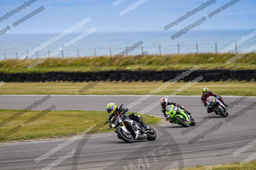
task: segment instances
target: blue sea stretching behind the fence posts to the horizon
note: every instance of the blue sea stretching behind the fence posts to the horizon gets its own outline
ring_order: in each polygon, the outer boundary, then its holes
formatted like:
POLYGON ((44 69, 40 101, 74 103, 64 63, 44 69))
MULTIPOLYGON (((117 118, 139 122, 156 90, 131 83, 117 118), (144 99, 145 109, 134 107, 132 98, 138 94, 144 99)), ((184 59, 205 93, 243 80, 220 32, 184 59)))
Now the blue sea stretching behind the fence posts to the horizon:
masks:
MULTIPOLYGON (((180 54, 196 53, 196 44, 198 44, 198 52, 215 52, 215 43, 217 43, 217 51, 227 48, 235 41, 240 40, 243 36, 256 31, 256 29, 234 29, 234 30, 190 30, 186 34, 182 34, 179 38, 174 40, 171 36, 178 31, 154 31, 154 32, 117 32, 117 33, 103 33, 94 32, 82 40, 76 42, 68 48, 64 47, 66 42, 76 38, 81 33, 70 33, 62 37, 60 40, 48 45, 39 51, 39 57, 48 54, 48 51, 54 51, 58 47, 62 47, 64 57, 77 57, 77 49, 79 56, 94 56, 94 48, 96 55, 109 55, 109 48, 111 47, 112 55, 116 55, 125 47, 133 46, 139 41, 143 41, 144 51, 149 54, 159 54, 159 45, 161 45, 162 54, 177 54, 178 44, 180 44, 180 54)), ((18 58, 41 44, 44 41, 49 41, 58 33, 48 34, 4 34, 1 35, 2 43, 0 44, 0 59, 4 59, 4 52, 6 58, 18 58)), ((237 47, 237 51, 242 51, 246 48, 256 44, 256 36, 243 42, 237 47)), ((139 55, 141 53, 141 46, 129 52, 129 55, 139 55)), ((235 52, 233 49, 230 52, 235 52)), ((255 52, 255 51, 254 51, 255 52)), ((56 55, 61 57, 61 52, 56 55)), ((29 56, 29 58, 36 58, 36 54, 29 56)))

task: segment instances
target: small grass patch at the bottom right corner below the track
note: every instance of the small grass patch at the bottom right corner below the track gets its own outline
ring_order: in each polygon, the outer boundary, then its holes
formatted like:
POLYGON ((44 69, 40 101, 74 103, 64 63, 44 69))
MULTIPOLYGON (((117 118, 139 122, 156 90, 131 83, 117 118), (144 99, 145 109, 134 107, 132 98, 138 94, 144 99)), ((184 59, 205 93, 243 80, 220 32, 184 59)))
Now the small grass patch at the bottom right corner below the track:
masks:
POLYGON ((252 170, 256 169, 256 161, 251 161, 247 164, 240 165, 239 162, 221 165, 221 166, 196 166, 194 168, 185 168, 182 170, 208 170, 207 168, 212 168, 211 170, 252 170))

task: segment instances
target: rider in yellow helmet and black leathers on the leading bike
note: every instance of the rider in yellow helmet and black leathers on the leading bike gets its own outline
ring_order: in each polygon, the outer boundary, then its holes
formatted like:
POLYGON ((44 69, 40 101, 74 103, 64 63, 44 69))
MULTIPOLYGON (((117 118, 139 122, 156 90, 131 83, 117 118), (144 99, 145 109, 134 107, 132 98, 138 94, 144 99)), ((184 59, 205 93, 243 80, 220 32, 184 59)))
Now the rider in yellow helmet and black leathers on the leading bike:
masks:
MULTIPOLYGON (((122 115, 123 114, 126 115, 125 113, 128 112, 128 107, 124 107, 124 108, 119 109, 119 107, 117 107, 115 103, 108 103, 108 105, 106 106, 106 109, 107 109, 107 112, 109 114, 109 116, 108 116, 108 121, 109 122, 111 122, 112 117, 114 117, 114 116, 118 117, 121 112, 124 111, 122 113, 122 115)), ((135 122, 139 122, 145 129, 150 129, 149 126, 146 123, 144 123, 139 118, 139 116, 137 116, 135 113, 132 113, 132 114, 128 115, 128 117, 131 120, 135 121, 135 122)))

